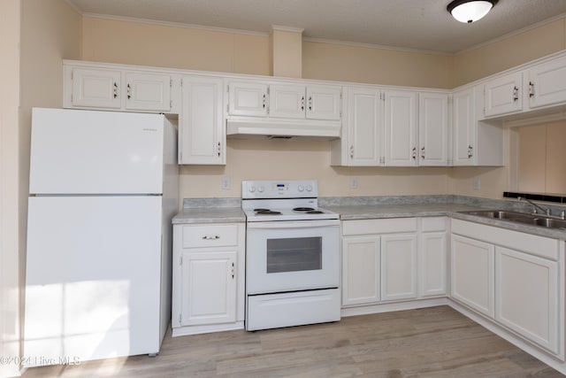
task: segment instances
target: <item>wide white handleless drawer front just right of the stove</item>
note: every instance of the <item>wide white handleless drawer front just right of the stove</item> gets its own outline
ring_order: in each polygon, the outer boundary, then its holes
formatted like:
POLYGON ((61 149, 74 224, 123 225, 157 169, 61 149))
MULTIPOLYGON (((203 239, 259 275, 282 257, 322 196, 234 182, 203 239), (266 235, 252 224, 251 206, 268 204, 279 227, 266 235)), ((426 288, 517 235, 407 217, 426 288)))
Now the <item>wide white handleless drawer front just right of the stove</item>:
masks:
POLYGON ((387 218, 383 220, 345 220, 342 235, 372 235, 416 232, 417 218, 387 218))

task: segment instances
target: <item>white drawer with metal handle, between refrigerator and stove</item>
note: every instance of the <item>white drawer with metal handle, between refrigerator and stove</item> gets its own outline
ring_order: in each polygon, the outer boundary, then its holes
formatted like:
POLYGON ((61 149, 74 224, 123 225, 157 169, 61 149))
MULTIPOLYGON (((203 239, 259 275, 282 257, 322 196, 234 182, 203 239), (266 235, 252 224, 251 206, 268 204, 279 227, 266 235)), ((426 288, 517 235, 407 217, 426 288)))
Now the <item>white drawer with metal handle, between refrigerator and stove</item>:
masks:
POLYGON ((183 227, 183 248, 222 247, 238 244, 238 225, 183 227))

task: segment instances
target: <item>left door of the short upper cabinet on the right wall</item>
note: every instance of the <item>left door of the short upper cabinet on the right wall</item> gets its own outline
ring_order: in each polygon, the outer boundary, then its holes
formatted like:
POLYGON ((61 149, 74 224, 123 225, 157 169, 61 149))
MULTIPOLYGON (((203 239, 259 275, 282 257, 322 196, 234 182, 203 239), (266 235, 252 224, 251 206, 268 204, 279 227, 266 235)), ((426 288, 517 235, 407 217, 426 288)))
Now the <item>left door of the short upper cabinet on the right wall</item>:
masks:
POLYGON ((522 73, 510 73, 487 81, 484 86, 484 115, 492 117, 523 109, 522 73))

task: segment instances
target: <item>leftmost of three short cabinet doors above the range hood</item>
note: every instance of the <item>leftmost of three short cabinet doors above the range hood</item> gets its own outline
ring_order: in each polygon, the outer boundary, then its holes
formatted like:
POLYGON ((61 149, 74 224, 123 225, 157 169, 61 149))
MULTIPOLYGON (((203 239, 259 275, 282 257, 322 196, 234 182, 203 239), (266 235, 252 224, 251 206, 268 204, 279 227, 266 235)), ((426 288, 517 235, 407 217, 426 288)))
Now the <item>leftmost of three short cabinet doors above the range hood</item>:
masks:
POLYGON ((268 106, 267 84, 241 81, 231 81, 228 84, 230 115, 267 117, 268 106))

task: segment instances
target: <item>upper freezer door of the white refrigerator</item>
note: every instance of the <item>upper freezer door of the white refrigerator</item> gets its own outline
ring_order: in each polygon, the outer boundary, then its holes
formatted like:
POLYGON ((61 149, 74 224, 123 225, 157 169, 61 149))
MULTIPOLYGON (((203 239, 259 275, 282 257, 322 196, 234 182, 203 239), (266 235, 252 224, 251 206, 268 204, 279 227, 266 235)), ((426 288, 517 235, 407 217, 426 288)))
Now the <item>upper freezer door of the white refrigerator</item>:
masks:
POLYGON ((164 116, 34 108, 31 194, 160 194, 164 116))

